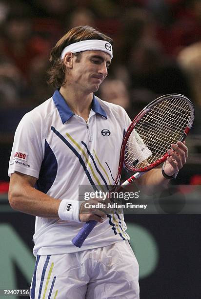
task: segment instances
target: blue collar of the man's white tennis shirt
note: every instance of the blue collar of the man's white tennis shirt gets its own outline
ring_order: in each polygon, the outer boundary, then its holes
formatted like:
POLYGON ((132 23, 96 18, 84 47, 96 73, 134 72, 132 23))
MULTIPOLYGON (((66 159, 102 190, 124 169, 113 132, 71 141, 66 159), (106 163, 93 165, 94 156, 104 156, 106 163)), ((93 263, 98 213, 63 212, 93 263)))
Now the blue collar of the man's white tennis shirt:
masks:
MULTIPOLYGON (((68 106, 68 104, 66 103, 66 101, 64 100, 64 98, 62 97, 62 95, 60 94, 58 89, 55 90, 52 98, 55 103, 55 106, 57 107, 57 109, 60 113, 61 121, 64 124, 73 115, 75 115, 75 113, 72 112, 71 108, 68 106)), ((99 101, 97 100, 95 95, 93 96, 93 100, 92 100, 92 110, 95 113, 97 113, 107 119, 107 114, 106 114, 105 110, 101 107, 101 104, 99 103, 99 101)))

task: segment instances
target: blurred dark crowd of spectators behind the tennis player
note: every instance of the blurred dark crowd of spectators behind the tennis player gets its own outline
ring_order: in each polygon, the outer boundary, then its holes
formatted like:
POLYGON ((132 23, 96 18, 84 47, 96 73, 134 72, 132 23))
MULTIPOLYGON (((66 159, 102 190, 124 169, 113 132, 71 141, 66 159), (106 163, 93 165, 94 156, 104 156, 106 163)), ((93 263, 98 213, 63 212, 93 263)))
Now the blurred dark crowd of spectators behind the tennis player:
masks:
MULTIPOLYGON (((51 97, 50 50, 79 25, 114 40, 101 99, 132 119, 156 97, 181 93, 201 112, 201 0, 0 0, 1 144, 12 143, 25 112, 51 97)), ((197 117, 193 133, 200 128, 197 117)))

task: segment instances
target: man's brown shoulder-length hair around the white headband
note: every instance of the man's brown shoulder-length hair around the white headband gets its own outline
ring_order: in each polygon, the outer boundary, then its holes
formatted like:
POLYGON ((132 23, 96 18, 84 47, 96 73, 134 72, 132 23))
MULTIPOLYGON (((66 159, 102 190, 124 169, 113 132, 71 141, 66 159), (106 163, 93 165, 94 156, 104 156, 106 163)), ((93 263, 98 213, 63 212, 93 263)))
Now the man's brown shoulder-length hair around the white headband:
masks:
MULTIPOLYGON (((65 84, 65 64, 60 59, 62 50, 71 43, 77 43, 86 40, 102 40, 107 41, 113 45, 113 40, 89 26, 78 26, 70 29, 54 46, 50 54, 51 67, 48 70, 48 81, 49 85, 53 85, 56 88, 65 84)), ((77 61, 79 62, 80 53, 75 53, 77 61)))

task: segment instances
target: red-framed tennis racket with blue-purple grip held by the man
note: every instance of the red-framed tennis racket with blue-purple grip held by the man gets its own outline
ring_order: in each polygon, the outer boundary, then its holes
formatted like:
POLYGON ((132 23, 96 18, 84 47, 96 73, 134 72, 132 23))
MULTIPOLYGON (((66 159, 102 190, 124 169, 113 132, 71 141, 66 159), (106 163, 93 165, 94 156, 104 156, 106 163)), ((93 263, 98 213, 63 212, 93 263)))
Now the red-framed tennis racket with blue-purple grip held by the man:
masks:
MULTIPOLYGON (((146 171, 166 161, 169 156, 167 150, 171 149, 172 143, 177 144, 178 141, 182 142, 186 138, 193 120, 194 107, 191 101, 181 94, 161 96, 144 107, 124 135, 118 173, 110 192, 114 190, 120 192, 123 187, 141 177, 146 171), (140 156, 136 142, 141 144, 140 156), (123 166, 137 173, 117 189, 123 166)), ((95 220, 87 221, 78 235, 72 239, 72 243, 81 247, 96 224, 95 220)))

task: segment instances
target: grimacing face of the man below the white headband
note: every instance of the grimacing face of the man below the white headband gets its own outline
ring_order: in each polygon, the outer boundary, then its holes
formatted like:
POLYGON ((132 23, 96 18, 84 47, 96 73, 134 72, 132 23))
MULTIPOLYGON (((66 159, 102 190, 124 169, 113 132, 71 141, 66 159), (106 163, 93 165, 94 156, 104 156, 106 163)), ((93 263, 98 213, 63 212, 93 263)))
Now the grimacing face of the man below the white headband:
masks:
POLYGON ((77 90, 87 93, 97 91, 107 76, 110 55, 103 51, 89 50, 81 53, 80 62, 75 56, 73 59, 70 80, 67 81, 75 85, 77 90))

